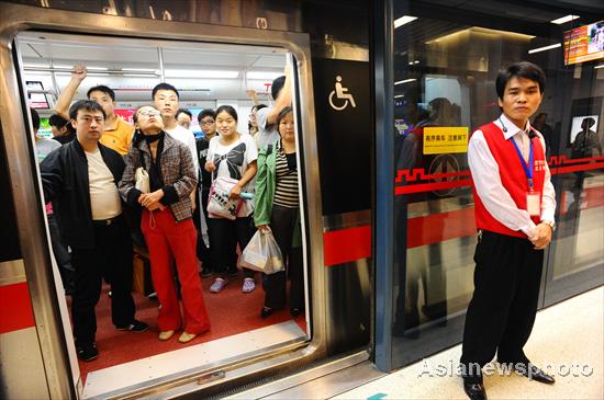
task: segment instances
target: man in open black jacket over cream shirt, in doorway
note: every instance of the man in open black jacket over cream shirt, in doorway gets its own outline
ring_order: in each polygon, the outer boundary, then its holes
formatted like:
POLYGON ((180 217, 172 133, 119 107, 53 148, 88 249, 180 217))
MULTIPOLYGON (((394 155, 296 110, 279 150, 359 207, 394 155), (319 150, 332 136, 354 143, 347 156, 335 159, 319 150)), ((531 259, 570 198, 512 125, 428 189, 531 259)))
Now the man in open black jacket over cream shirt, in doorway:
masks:
POLYGON ((122 216, 118 183, 124 161, 99 144, 104 129, 103 108, 81 100, 69 110, 76 140, 51 152, 40 165, 46 202, 54 201, 61 237, 71 248, 76 285, 71 304, 78 356, 98 357, 94 307, 102 278, 111 284, 111 319, 119 330, 143 332, 134 319, 132 242, 122 216))

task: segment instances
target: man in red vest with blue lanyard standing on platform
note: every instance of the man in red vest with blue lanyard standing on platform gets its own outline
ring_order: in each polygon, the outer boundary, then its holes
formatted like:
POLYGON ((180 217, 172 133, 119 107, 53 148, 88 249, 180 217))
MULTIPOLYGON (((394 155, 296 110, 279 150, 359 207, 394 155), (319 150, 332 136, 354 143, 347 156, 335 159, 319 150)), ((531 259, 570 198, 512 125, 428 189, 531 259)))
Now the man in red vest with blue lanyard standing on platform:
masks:
POLYGON ((523 351, 537 312, 544 249, 555 226, 545 141, 528 121, 541 103, 545 82, 544 71, 530 62, 501 71, 495 84, 503 114, 476 130, 468 148, 479 229, 461 354, 470 399, 486 399, 481 368, 495 352, 500 363, 518 374, 553 384, 523 351))

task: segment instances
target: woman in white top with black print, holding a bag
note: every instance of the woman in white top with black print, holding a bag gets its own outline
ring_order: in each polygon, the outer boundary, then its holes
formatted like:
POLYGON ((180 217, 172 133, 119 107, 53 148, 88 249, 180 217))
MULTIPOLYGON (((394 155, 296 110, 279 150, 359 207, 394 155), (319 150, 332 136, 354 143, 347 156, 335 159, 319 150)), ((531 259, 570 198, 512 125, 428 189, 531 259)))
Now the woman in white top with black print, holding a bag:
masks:
MULTIPOLYGON (((237 132, 237 112, 232 106, 222 105, 216 110, 216 132, 219 136, 210 140, 204 168, 212 173, 212 183, 217 176, 236 180, 237 183, 231 190, 228 197, 238 199, 242 204, 234 220, 210 214, 210 251, 214 273, 217 275, 210 287, 211 293, 219 293, 226 286, 228 283, 225 277, 226 272, 236 267, 230 264, 236 263, 233 253, 237 243, 243 250, 251 237, 253 202, 243 199, 239 195, 246 192, 246 185, 256 174, 258 158, 258 149, 251 136, 237 132)), ((254 292, 256 288, 254 271, 244 268, 244 273, 242 290, 254 292)))

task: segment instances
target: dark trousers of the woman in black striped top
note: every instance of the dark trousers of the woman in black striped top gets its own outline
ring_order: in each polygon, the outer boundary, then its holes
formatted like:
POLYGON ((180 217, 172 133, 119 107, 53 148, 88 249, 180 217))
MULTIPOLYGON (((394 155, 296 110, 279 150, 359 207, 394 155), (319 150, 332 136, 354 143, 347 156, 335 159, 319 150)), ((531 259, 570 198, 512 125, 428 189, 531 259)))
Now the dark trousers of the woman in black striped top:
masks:
POLYGON ((262 287, 265 288, 265 307, 280 309, 286 306, 286 288, 288 273, 291 281, 290 287, 290 308, 302 309, 304 307, 304 275, 302 271, 302 248, 293 248, 292 236, 297 228, 295 222, 300 210, 298 208, 287 208, 279 205, 272 206, 270 216, 270 229, 281 255, 287 271, 275 274, 262 274, 262 287))

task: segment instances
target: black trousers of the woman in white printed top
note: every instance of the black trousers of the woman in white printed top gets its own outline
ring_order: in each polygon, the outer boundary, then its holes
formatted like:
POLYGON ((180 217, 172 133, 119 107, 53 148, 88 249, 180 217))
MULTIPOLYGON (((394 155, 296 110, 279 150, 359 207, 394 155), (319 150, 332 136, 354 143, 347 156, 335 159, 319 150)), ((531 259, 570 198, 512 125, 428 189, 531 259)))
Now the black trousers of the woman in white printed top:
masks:
MULTIPOLYGON (((239 243, 242 251, 251 239, 251 217, 237 218, 208 218, 210 228, 210 251, 212 253, 212 268, 215 274, 224 275, 234 271, 237 265, 236 248, 239 243), (235 254, 235 256, 233 255, 235 254)), ((246 277, 253 277, 254 271, 244 267, 246 277)))

